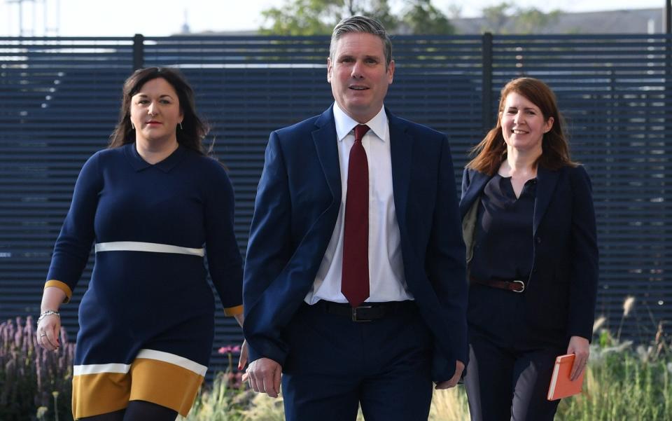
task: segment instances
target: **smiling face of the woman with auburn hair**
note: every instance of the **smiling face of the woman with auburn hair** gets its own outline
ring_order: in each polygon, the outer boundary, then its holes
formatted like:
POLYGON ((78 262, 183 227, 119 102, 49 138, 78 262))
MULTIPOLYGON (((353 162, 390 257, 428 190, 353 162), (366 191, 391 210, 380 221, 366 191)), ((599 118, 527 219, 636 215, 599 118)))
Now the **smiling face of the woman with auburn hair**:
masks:
POLYGON ((510 92, 500 118, 507 146, 526 152, 538 150, 541 154, 544 133, 553 127, 552 117, 544 120, 538 106, 518 92, 510 92))

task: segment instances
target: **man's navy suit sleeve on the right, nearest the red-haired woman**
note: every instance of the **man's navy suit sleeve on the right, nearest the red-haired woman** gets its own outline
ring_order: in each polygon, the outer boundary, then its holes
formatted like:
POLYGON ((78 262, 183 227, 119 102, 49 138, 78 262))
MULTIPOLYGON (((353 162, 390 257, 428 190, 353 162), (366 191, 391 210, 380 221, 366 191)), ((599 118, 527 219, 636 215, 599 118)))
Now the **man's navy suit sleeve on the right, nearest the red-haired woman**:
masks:
POLYGON ((448 326, 451 350, 449 356, 440 350, 435 351, 436 381, 451 378, 456 359, 465 365, 468 362, 465 249, 455 189, 455 174, 448 140, 445 137, 442 141, 439 165, 437 200, 427 250, 426 270, 439 298, 444 323, 448 326), (443 358, 444 361, 437 361, 437 358, 443 358), (440 369, 442 366, 444 368, 440 369))

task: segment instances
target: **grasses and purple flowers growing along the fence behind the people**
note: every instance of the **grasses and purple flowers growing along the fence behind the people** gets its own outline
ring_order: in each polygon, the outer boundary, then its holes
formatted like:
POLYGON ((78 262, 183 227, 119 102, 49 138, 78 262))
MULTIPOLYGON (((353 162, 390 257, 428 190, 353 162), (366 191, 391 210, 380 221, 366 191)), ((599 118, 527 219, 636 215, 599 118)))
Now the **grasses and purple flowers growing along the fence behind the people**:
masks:
MULTIPOLYGON (((624 315, 634 301, 626 298, 624 315)), ((563 399, 556 421, 672 421, 672 351, 664 323, 649 344, 633 347, 603 329, 591 345, 583 393, 563 399)), ((71 420, 70 400, 74 345, 62 332, 58 352, 46 352, 36 343, 31 318, 0 324, 0 420, 71 420)), ((235 347, 223 347, 229 366, 211 386, 202 389, 188 421, 283 421, 283 401, 251 392, 232 371, 235 347)), ((358 421, 363 421, 361 412, 358 421)), ((434 392, 430 421, 468 421, 469 409, 462 386, 434 392)))

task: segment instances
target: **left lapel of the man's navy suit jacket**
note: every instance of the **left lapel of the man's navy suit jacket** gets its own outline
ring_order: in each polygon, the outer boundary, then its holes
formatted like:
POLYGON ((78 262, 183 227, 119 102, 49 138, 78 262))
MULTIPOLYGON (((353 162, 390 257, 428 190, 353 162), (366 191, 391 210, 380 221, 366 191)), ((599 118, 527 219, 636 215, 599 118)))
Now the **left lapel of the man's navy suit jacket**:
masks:
POLYGON ((313 142, 317 151, 324 177, 334 198, 334 203, 341 203, 341 169, 338 162, 338 145, 336 124, 332 107, 324 111, 315 122, 317 130, 312 132, 313 142))

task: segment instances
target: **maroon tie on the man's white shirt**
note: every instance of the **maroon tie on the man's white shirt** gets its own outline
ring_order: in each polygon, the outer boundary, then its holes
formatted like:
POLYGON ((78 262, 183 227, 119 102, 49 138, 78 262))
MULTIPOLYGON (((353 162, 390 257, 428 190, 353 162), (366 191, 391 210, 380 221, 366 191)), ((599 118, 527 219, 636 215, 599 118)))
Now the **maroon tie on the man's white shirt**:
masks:
POLYGON ((369 165, 362 146, 368 130, 363 124, 355 127, 345 198, 341 292, 353 308, 369 297, 369 165))

